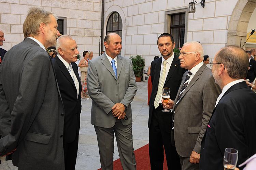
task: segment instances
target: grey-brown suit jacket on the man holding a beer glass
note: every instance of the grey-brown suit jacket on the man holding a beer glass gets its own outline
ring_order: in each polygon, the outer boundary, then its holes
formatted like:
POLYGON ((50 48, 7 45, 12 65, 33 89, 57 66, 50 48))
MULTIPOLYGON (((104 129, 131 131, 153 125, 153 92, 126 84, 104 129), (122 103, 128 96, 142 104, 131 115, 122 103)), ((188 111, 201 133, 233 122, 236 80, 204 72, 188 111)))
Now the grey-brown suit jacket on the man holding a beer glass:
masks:
POLYGON ((174 140, 177 153, 182 157, 190 157, 193 150, 200 153, 203 135, 216 99, 221 93, 211 69, 203 64, 189 82, 180 102, 175 106, 186 75, 187 71, 183 75, 174 101, 174 140))

